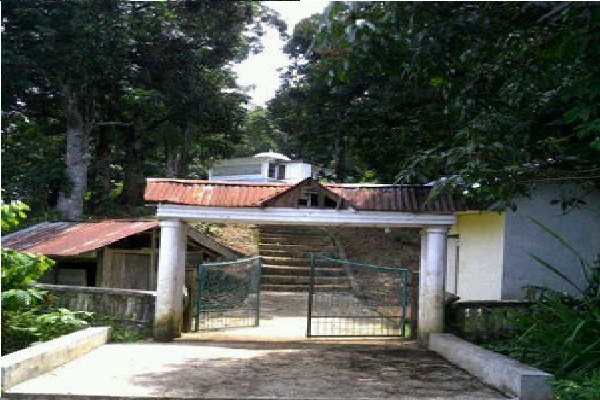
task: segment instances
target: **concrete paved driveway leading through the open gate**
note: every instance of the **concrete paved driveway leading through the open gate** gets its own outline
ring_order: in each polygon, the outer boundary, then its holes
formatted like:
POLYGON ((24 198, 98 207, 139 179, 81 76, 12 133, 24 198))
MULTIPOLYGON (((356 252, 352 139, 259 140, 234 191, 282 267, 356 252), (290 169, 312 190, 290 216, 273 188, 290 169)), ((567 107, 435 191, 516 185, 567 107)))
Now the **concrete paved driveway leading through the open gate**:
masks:
POLYGON ((266 295, 262 328, 105 345, 3 398, 506 399, 412 341, 304 339, 301 300, 266 295))

